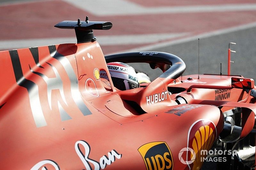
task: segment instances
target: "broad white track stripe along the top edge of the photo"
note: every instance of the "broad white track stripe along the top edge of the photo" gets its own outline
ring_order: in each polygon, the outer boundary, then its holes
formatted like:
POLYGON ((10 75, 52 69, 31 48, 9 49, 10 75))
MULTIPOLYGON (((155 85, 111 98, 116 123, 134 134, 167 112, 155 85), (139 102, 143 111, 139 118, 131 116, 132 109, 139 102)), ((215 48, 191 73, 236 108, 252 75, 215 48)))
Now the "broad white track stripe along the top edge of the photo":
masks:
POLYGON ((125 0, 64 0, 77 8, 96 16, 145 15, 161 13, 195 13, 195 12, 228 12, 255 11, 256 4, 220 4, 145 7, 125 0))

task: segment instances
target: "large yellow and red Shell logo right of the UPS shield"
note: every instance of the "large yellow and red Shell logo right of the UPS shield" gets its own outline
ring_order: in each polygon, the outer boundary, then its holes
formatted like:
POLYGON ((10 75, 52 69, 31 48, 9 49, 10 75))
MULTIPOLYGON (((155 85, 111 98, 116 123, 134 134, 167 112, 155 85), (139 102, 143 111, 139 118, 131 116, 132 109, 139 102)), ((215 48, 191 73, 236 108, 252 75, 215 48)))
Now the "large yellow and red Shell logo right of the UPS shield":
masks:
POLYGON ((201 168, 203 165, 203 161, 201 161, 201 159, 205 158, 207 155, 200 153, 202 150, 209 151, 216 137, 216 126, 210 120, 200 119, 190 126, 188 131, 187 145, 187 149, 190 149, 183 152, 181 155, 182 159, 186 162, 186 164, 188 164, 190 169, 201 168))

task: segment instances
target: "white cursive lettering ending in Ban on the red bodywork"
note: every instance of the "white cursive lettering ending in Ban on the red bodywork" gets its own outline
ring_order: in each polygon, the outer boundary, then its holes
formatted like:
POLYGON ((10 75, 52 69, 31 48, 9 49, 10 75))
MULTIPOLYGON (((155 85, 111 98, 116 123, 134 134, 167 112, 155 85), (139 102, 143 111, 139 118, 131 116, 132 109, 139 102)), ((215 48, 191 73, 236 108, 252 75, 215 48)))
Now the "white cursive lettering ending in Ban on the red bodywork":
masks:
MULTIPOLYGON (((115 150, 112 150, 108 152, 108 156, 104 155, 100 158, 99 162, 93 159, 89 158, 89 154, 91 152, 90 145, 82 140, 79 140, 75 144, 75 150, 78 157, 81 159, 81 161, 84 164, 84 167, 86 170, 92 170, 91 165, 94 166, 94 170, 100 170, 105 169, 107 165, 111 165, 113 162, 116 161, 116 159, 121 159, 122 154, 117 153, 115 150), (81 148, 83 147, 83 149, 81 148), (84 151, 84 152, 83 152, 84 151), (91 164, 90 164, 91 163, 91 164)), ((38 170, 41 166, 44 166, 44 169, 47 169, 49 167, 54 167, 55 170, 59 170, 60 167, 58 164, 52 160, 43 160, 38 162, 36 165, 34 165, 31 170, 38 170), (47 167, 46 167, 47 164, 47 167), (49 166, 49 164, 51 166, 49 166)))

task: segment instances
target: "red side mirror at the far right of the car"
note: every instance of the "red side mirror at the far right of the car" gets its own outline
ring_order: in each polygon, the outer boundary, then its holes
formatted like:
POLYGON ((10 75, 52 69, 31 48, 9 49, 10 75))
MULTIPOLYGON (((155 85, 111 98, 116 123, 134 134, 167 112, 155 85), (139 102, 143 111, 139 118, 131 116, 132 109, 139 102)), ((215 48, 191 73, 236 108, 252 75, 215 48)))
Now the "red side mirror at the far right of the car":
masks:
POLYGON ((254 88, 254 80, 252 78, 231 78, 231 86, 237 89, 251 90, 254 88))

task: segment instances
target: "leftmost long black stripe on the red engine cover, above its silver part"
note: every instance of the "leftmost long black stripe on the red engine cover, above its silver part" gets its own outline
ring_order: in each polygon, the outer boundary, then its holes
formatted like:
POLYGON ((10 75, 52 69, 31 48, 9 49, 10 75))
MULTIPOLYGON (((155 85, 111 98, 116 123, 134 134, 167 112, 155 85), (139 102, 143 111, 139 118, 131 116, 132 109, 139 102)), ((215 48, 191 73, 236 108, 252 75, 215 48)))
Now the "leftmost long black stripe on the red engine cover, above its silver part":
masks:
POLYGON ((23 76, 18 51, 17 50, 10 50, 9 53, 10 53, 10 56, 11 56, 12 67, 13 67, 13 71, 14 71, 14 75, 15 75, 15 79, 16 79, 17 84, 22 86, 22 87, 25 87, 28 90, 31 89, 32 86, 34 86, 36 84, 34 82, 26 79, 23 76))

